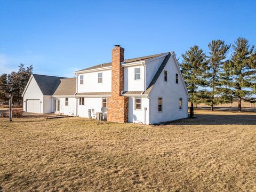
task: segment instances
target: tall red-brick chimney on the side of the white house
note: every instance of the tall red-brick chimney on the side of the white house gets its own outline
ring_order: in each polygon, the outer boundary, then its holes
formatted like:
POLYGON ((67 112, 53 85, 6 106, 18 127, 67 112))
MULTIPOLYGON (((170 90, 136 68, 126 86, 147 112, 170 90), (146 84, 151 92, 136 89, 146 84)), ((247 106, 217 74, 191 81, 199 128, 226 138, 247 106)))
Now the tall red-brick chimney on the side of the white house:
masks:
POLYGON ((115 45, 112 50, 111 97, 108 98, 108 121, 128 122, 128 97, 121 95, 124 90, 124 48, 115 45))

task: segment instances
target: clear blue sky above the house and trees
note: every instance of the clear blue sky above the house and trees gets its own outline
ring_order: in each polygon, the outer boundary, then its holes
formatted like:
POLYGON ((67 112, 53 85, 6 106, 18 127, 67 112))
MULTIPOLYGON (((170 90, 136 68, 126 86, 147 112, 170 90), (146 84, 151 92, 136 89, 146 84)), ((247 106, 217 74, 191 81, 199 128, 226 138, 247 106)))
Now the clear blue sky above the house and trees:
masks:
POLYGON ((256 1, 3 1, 0 74, 33 65, 34 73, 73 72, 111 61, 115 44, 125 58, 190 46, 207 51, 212 39, 256 44, 256 1))

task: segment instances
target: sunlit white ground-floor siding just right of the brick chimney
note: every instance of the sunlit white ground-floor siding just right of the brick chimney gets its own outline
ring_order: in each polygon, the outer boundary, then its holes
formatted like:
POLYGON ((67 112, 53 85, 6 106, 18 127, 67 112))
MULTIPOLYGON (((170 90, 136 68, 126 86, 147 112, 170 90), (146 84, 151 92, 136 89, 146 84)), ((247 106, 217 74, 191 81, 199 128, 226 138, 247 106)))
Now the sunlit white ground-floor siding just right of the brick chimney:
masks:
POLYGON ((129 115, 128 122, 130 123, 143 123, 148 124, 148 114, 149 114, 149 100, 148 98, 141 98, 141 110, 135 110, 135 97, 129 97, 129 115), (145 107, 147 110, 145 111, 145 107), (146 118, 145 118, 146 117, 146 118), (145 122, 146 119, 146 122, 145 122))

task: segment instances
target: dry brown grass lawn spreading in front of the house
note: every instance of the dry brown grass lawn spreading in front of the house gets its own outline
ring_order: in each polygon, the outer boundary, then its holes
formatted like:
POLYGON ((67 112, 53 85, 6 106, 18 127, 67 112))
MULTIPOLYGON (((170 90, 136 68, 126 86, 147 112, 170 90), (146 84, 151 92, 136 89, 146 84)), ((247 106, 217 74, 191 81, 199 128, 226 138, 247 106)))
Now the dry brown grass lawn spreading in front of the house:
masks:
POLYGON ((165 126, 2 118, 0 191, 256 191, 256 114, 195 116, 165 126))

